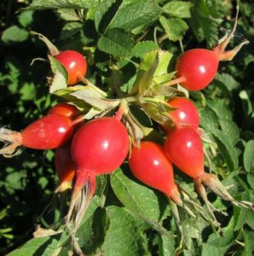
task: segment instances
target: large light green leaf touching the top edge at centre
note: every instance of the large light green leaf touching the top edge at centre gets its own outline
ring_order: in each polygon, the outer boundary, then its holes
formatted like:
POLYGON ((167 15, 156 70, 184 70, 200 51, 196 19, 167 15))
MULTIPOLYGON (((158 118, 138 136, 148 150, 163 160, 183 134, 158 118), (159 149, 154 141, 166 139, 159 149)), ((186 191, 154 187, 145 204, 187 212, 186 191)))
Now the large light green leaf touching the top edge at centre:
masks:
POLYGON ((113 20, 109 24, 109 28, 119 27, 126 31, 131 31, 138 26, 153 22, 159 18, 161 9, 159 5, 153 1, 139 0, 132 1, 118 9, 113 20))

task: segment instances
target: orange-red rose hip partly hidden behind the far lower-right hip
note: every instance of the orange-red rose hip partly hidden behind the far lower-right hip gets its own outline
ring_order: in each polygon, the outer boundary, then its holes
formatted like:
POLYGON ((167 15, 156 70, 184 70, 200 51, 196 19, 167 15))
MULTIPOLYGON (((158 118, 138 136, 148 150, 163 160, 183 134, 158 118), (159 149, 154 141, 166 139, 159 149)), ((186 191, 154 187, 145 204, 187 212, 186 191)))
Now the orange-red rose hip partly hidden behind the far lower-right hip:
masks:
POLYGON ((162 125, 162 129, 167 133, 174 128, 188 126, 197 131, 199 128, 199 111, 187 98, 175 97, 168 101, 171 108, 176 108, 169 113, 171 122, 166 122, 162 125))

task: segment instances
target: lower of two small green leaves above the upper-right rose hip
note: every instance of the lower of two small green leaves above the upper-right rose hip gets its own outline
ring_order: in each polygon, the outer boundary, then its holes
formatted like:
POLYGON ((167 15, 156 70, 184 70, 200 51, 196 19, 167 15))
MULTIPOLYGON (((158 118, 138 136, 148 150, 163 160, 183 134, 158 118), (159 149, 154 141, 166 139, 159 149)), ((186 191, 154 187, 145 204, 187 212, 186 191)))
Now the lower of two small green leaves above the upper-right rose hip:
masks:
POLYGON ((182 40, 188 30, 188 24, 179 18, 166 19, 164 16, 159 18, 160 24, 164 27, 170 41, 182 40))

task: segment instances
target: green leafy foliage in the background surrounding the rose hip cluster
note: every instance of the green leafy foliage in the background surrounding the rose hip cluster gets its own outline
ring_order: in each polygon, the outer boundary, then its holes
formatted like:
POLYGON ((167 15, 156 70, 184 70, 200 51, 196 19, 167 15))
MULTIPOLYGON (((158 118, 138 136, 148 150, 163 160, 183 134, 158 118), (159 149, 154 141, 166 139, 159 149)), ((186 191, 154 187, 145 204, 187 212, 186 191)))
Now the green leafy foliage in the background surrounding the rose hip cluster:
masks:
MULTIPOLYGON (((234 197, 254 202, 254 6, 240 3, 238 31, 231 44, 247 38, 234 61, 220 63, 212 84, 190 97, 199 107, 201 127, 216 143, 211 158, 224 184, 234 184, 234 197)), ((31 31, 40 32, 59 49, 77 49, 89 61, 87 77, 101 89, 129 91, 142 55, 152 49, 209 48, 229 29, 235 2, 217 0, 145 1, 4 1, 0 3, 0 124, 20 131, 47 113, 57 101, 49 94, 47 49, 31 31), (25 8, 25 9, 24 9, 25 8)), ((174 60, 174 58, 173 58, 174 60)), ((172 63, 173 67, 173 63, 172 63)), ((150 122, 150 121, 149 121, 150 122)), ((150 125, 156 128, 154 123, 150 125)), ((207 152, 213 151, 208 144, 207 152)), ((0 254, 67 255, 68 236, 32 239, 37 217, 55 188, 54 152, 23 150, 0 160, 0 254), (28 241, 23 247, 26 241, 28 241), (20 247, 17 249, 17 247, 20 247), (16 250, 14 250, 16 249, 16 250)), ((176 180, 193 196, 191 181, 176 171, 176 180)), ((127 165, 98 179, 98 191, 78 230, 86 254, 172 255, 176 226, 170 207, 158 191, 128 172, 127 165), (105 198, 105 195, 106 198, 105 198)), ((218 215, 225 236, 216 236, 207 224, 181 212, 188 247, 184 255, 252 255, 253 213, 210 195, 213 204, 228 212, 218 215)), ((49 212, 43 225, 59 212, 49 212)))

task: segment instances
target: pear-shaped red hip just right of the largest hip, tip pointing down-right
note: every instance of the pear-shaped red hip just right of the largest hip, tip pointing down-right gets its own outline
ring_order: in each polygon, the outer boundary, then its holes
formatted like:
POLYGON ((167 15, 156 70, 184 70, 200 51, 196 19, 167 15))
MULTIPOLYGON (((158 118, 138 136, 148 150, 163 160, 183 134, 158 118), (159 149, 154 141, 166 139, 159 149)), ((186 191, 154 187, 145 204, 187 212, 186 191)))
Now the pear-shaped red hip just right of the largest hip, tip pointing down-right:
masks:
POLYGON ((140 148, 132 148, 129 165, 131 172, 137 179, 154 189, 159 189, 159 191, 163 192, 168 197, 171 211, 176 219, 176 224, 182 235, 182 239, 184 232, 176 205, 183 207, 192 217, 195 217, 195 215, 193 215, 188 205, 194 207, 203 218, 209 220, 209 218, 204 215, 202 207, 192 201, 189 196, 176 185, 172 164, 170 160, 167 159, 164 148, 159 144, 141 142, 140 148))

